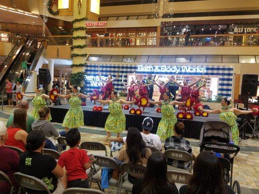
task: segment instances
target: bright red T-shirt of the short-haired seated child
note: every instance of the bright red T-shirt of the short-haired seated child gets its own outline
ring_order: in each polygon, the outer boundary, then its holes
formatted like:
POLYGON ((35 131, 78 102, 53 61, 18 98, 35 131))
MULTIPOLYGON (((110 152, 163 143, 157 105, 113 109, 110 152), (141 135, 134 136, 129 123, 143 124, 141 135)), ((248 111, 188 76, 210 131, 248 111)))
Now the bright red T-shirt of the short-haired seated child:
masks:
POLYGON ((80 178, 87 178, 84 164, 90 162, 87 152, 84 149, 69 149, 61 154, 58 164, 66 167, 68 181, 80 178))

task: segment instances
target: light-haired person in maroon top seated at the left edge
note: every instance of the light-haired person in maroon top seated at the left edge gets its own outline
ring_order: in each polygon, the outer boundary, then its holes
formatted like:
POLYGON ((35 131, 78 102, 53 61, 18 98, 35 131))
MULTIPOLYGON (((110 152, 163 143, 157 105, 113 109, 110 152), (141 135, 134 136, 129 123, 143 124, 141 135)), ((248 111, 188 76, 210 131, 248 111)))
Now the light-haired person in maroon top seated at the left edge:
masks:
MULTIPOLYGON (((4 172, 12 181, 15 189, 18 190, 19 186, 16 183, 13 174, 18 172, 19 156, 16 151, 4 146, 8 133, 4 123, 0 121, 0 171, 4 172)), ((9 194, 11 185, 8 182, 0 181, 0 194, 9 194)))

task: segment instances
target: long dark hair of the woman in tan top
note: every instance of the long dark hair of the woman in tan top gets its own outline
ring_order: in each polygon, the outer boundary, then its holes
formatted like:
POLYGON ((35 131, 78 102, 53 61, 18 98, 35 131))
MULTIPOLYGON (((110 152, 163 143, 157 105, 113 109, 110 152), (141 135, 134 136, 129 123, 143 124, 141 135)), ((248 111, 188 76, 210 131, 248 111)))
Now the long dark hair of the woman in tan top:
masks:
POLYGON ((141 158, 146 158, 146 144, 137 128, 129 128, 126 139, 126 152, 129 156, 129 163, 141 163, 141 158))

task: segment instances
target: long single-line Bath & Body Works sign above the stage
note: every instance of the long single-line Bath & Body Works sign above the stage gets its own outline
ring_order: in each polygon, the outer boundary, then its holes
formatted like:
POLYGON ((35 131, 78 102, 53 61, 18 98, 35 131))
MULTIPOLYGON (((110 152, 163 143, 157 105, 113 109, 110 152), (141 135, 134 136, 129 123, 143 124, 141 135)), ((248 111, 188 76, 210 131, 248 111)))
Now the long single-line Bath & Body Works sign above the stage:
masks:
POLYGON ((137 71, 146 71, 146 72, 168 72, 168 73, 204 73, 206 72, 205 67, 200 67, 200 66, 168 66, 168 65, 138 65, 138 70, 137 71))

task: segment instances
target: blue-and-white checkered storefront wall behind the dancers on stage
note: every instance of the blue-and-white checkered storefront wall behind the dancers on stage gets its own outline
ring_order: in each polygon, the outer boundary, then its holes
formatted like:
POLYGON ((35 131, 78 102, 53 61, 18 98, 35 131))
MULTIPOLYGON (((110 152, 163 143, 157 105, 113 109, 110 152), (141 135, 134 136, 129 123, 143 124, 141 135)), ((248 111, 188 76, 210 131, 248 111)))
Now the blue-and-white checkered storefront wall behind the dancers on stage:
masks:
MULTIPOLYGON (((102 76, 107 77, 108 75, 116 76, 118 74, 118 71, 120 69, 120 75, 119 79, 115 80, 113 82, 113 85, 116 90, 121 91, 125 87, 121 84, 122 74, 124 75, 124 82, 127 81, 128 74, 132 74, 133 72, 136 72, 136 74, 141 74, 142 78, 147 78, 147 75, 151 73, 150 71, 138 71, 138 65, 118 65, 118 64, 88 64, 86 67, 86 73, 87 73, 87 79, 86 79, 86 90, 93 90, 93 89, 100 89, 101 87, 101 81, 96 80, 97 73, 98 73, 98 65, 100 67, 100 72, 102 73, 102 76)), ((146 65, 143 65, 146 66, 146 65)), ((156 65, 152 65, 155 69, 156 65)), ((180 69, 182 65, 166 65, 167 67, 177 67, 180 69)), ((233 66, 224 66, 224 65, 186 65, 191 67, 205 67, 206 72, 204 73, 204 76, 207 77, 209 75, 210 77, 218 77, 218 95, 221 95, 223 97, 231 97, 232 93, 232 84, 233 84, 233 66)), ((183 79, 185 79, 185 75, 188 76, 201 76, 202 72, 183 72, 181 69, 179 72, 173 73, 173 72, 161 72, 156 71, 152 72, 153 75, 179 75, 182 76, 183 79)), ((178 77, 178 76, 177 76, 178 77)), ((179 80, 177 78, 177 80, 179 80)), ((210 79, 207 81, 207 85, 209 85, 210 79)))

